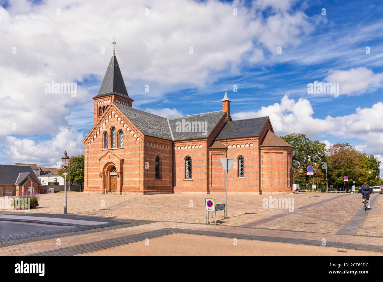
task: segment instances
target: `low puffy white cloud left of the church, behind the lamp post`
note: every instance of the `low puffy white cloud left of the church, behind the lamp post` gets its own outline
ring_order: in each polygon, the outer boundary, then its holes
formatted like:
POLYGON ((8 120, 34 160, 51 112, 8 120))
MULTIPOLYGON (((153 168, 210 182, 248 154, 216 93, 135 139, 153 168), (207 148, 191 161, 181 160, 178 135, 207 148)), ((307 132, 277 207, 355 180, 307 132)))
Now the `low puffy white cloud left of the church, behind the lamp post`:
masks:
POLYGON ((60 128, 52 139, 38 142, 7 136, 3 142, 3 154, 7 156, 9 163, 38 163, 41 166, 56 167, 57 164, 61 165, 61 157, 65 150, 68 151, 69 143, 71 156, 83 153, 83 139, 82 133, 68 128, 60 128))

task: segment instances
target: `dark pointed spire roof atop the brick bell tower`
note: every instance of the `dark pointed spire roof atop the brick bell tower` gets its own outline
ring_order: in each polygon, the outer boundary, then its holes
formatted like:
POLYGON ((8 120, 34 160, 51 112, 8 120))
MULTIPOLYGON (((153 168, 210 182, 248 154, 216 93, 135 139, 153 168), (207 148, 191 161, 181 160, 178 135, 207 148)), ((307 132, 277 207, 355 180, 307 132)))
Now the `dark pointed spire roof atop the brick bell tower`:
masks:
POLYGON ((129 97, 128 91, 126 91, 125 82, 122 77, 115 54, 113 54, 112 58, 110 59, 104 79, 101 83, 100 90, 98 91, 98 94, 93 98, 110 94, 129 98, 133 101, 133 99, 129 97))

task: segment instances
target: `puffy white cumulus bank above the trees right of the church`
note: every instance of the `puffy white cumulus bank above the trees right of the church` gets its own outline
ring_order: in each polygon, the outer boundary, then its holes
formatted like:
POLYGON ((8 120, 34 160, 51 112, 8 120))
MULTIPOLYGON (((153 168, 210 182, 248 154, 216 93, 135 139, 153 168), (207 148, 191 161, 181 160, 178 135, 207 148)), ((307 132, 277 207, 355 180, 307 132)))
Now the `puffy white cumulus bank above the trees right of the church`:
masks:
MULTIPOLYGON (((336 98, 334 98, 336 99, 336 98)), ((324 119, 314 118, 314 110, 308 99, 298 101, 284 96, 275 103, 260 110, 237 112, 233 119, 269 116, 276 134, 303 133, 311 138, 333 136, 337 139, 354 138, 364 141, 357 145, 363 153, 383 155, 383 102, 372 107, 357 108, 355 113, 337 117, 327 115, 324 119)), ((329 141, 322 141, 330 146, 329 141)))

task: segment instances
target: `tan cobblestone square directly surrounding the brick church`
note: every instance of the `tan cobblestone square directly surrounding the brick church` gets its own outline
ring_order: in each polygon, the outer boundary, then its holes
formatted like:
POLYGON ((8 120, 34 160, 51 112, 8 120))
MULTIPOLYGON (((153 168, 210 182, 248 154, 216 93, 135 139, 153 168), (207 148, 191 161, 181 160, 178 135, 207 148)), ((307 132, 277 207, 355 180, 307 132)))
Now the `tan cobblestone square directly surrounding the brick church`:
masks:
MULTIPOLYGON (((225 202, 224 194, 165 194, 165 195, 97 195, 68 194, 68 212, 92 218, 134 219, 139 221, 175 221, 205 223, 204 198, 213 197, 225 202)), ((383 237, 382 199, 379 197, 357 235, 383 237)), ((63 211, 63 193, 41 195, 40 206, 29 214, 60 214, 63 211)), ((217 212, 221 226, 248 226, 277 230, 336 234, 362 207, 360 194, 307 193, 295 195, 228 195, 228 219, 217 212), (263 208, 270 197, 290 200, 294 211, 263 208), (263 201, 265 199, 265 201, 263 201)), ((12 210, 15 212, 15 210, 12 210)), ((6 211, 8 212, 8 211, 6 211)), ((16 211, 17 213, 18 211, 16 211)))

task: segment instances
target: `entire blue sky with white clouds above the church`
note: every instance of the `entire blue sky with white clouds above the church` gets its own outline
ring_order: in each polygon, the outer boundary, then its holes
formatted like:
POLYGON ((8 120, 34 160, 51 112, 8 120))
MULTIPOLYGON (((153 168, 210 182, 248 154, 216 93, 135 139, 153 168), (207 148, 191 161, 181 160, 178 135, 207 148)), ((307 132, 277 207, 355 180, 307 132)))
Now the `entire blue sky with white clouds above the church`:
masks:
POLYGON ((54 165, 67 142, 82 152, 113 36, 137 109, 166 117, 221 110, 227 88, 234 119, 269 115, 278 135, 349 142, 383 160, 380 1, 175 1, 169 7, 112 1, 103 10, 69 1, 0 3, 7 42, 0 47, 0 74, 6 74, 0 100, 10 99, 9 81, 18 81, 14 92, 21 97, 11 97, 13 110, 3 118, 21 129, 0 131, 0 163, 54 165), (10 59, 13 46, 20 51, 10 59), (42 84, 51 80, 77 82, 77 97, 44 96, 42 84), (308 94, 314 81, 339 83, 339 97, 308 94))

